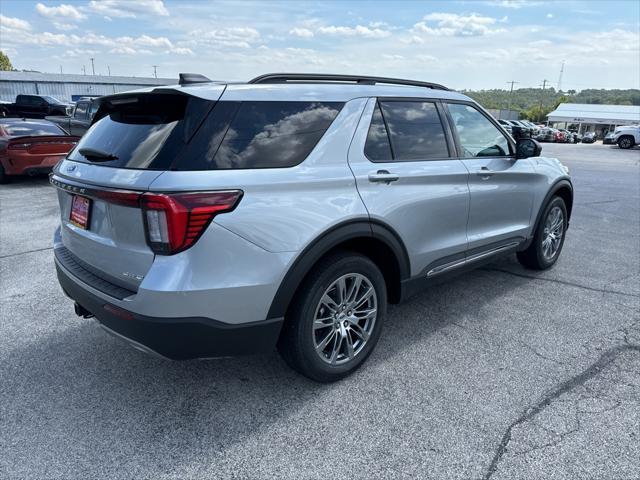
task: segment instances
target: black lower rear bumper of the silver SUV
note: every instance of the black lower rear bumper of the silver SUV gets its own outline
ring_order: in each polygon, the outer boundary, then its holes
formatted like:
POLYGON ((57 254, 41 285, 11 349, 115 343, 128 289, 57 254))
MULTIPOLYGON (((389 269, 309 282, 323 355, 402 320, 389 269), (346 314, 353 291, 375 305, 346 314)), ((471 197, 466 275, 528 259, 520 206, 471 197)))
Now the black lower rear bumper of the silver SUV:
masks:
POLYGON ((272 351, 283 319, 231 325, 209 318, 153 318, 105 302, 83 288, 56 261, 64 292, 134 347, 172 360, 215 358, 272 351), (106 307, 106 308, 105 308, 106 307))

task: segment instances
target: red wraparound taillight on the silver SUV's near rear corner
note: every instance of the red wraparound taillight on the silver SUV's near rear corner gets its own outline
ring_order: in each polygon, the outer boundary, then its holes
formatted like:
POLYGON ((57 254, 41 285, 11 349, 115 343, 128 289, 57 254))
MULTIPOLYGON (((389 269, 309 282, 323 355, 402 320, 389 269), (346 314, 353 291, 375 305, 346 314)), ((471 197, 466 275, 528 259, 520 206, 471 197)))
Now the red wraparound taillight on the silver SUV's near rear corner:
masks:
POLYGON ((147 243, 155 253, 171 255, 192 246, 213 217, 232 211, 240 190, 194 193, 144 193, 140 206, 147 243))

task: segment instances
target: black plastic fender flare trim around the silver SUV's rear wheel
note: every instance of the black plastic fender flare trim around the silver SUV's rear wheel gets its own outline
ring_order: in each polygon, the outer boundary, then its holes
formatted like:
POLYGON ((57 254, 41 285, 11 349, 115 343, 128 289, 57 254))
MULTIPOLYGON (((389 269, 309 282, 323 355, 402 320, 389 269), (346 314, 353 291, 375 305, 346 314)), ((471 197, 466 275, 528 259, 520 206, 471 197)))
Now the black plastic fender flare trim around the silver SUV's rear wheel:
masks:
POLYGON ((346 221, 324 232, 300 252, 280 282, 267 318, 284 317, 298 286, 316 262, 341 243, 358 237, 370 237, 383 242, 394 253, 400 280, 409 278, 409 255, 402 240, 390 226, 368 219, 346 221))

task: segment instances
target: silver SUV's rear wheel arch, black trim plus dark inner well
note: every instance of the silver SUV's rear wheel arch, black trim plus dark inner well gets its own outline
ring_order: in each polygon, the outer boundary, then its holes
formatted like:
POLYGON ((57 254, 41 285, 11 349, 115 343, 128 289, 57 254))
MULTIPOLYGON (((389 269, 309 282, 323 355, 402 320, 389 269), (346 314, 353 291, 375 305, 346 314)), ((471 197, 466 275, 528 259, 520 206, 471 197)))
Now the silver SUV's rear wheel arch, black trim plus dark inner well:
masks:
POLYGON ((369 257, 385 277, 389 301, 400 301, 401 282, 411 272, 404 243, 382 222, 354 220, 335 225, 302 250, 280 282, 267 318, 284 316, 309 272, 320 259, 337 250, 351 250, 369 257))

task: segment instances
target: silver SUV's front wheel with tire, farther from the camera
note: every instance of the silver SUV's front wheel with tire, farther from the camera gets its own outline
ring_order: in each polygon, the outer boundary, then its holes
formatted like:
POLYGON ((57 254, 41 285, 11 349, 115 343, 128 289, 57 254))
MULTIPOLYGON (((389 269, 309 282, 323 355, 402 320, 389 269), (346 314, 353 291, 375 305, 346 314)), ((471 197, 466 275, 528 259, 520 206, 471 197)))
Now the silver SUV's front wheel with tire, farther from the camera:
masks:
POLYGON ((546 270, 558 260, 567 233, 567 207, 560 197, 547 204, 536 228, 533 242, 518 252, 520 263, 533 270, 546 270))

